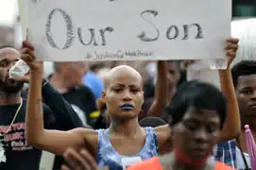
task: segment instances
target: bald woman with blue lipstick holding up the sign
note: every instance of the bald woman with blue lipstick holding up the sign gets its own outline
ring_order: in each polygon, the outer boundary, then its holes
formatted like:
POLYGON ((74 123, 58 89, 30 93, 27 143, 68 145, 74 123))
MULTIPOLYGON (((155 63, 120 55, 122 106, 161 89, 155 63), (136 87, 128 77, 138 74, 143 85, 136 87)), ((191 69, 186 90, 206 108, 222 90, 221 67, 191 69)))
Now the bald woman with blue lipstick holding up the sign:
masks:
MULTIPOLYGON (((99 166, 116 170, 152 158, 158 155, 158 149, 170 148, 170 127, 140 127, 138 114, 144 103, 143 78, 127 65, 114 67, 105 79, 102 100, 111 116, 108 129, 44 129, 41 111, 43 66, 35 61, 34 47, 28 42, 23 45, 22 59, 31 68, 26 111, 28 144, 57 155, 62 155, 68 147, 83 147, 94 156, 99 166)), ((220 141, 223 138, 216 143, 220 141)))

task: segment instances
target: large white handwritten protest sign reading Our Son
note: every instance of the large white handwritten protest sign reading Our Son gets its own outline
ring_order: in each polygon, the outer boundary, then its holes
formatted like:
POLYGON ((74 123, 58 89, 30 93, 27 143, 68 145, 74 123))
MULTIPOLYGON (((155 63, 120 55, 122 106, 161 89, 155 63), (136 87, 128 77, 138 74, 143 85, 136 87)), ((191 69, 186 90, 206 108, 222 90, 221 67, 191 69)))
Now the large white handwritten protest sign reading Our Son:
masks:
POLYGON ((220 59, 231 0, 30 0, 39 59, 220 59))

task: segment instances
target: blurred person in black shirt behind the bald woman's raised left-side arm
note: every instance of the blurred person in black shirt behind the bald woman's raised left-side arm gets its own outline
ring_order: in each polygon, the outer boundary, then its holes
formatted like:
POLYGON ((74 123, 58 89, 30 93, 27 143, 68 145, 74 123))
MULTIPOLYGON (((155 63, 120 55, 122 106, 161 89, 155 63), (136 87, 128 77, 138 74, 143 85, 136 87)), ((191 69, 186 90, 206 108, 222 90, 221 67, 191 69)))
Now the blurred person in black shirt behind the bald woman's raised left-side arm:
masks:
POLYGON ((83 125, 88 124, 94 127, 99 112, 94 93, 82 83, 82 77, 87 72, 85 63, 83 61, 55 62, 54 70, 55 74, 48 77, 49 82, 71 104, 83 125))

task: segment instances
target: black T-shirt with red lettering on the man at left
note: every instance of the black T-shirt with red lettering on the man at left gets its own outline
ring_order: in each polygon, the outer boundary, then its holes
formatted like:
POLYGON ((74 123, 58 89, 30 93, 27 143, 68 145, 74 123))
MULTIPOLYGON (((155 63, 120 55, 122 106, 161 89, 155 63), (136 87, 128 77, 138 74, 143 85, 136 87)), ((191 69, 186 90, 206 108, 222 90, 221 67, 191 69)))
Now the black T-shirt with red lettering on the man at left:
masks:
MULTIPOLYGON (((42 151, 26 144, 26 99, 20 101, 20 103, 0 106, 1 170, 39 169, 42 151)), ((46 116, 44 127, 55 129, 55 118, 52 115, 52 110, 43 105, 43 114, 46 116)))

